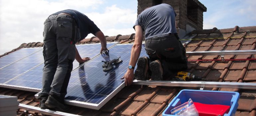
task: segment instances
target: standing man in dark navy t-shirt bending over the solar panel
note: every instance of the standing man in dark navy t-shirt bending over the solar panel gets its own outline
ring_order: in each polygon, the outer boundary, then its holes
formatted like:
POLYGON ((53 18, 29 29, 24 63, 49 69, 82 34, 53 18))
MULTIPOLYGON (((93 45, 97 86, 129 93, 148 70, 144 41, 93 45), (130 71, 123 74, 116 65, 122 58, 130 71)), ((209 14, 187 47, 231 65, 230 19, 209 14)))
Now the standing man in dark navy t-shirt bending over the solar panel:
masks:
POLYGON ((81 58, 75 43, 84 39, 89 33, 99 38, 100 53, 108 50, 106 38, 100 29, 84 14, 76 10, 64 10, 50 15, 44 22, 43 55, 43 89, 39 94, 41 109, 66 111, 64 97, 74 59, 84 63, 90 58, 81 58))

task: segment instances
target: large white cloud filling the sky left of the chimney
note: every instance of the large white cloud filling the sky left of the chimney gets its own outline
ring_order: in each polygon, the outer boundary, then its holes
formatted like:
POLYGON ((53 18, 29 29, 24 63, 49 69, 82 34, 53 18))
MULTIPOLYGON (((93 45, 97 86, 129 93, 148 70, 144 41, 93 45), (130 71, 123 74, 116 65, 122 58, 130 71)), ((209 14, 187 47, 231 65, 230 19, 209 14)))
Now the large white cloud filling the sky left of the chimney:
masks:
POLYGON ((102 14, 90 12, 91 9, 98 9, 105 0, 55 0, 53 2, 0 0, 0 2, 0 54, 11 51, 22 43, 43 42, 44 21, 50 14, 64 9, 88 12, 86 15, 108 36, 134 33, 132 25, 137 15, 136 10, 121 9, 116 5, 106 7, 102 14), (129 29, 122 28, 125 26, 129 29))

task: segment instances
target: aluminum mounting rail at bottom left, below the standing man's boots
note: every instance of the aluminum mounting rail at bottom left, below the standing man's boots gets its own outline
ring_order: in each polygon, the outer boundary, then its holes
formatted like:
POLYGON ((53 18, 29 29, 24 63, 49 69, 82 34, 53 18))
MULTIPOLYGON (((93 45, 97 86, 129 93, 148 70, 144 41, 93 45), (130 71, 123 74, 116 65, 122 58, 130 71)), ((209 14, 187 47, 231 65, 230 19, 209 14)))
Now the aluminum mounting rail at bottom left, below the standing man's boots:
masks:
POLYGON ((25 105, 25 104, 21 104, 21 103, 19 104, 19 108, 25 109, 27 111, 39 112, 39 113, 50 115, 50 116, 79 116, 79 115, 75 115, 75 114, 59 112, 59 111, 54 111, 54 110, 49 110, 49 109, 41 109, 39 107, 34 107, 34 106, 25 105))

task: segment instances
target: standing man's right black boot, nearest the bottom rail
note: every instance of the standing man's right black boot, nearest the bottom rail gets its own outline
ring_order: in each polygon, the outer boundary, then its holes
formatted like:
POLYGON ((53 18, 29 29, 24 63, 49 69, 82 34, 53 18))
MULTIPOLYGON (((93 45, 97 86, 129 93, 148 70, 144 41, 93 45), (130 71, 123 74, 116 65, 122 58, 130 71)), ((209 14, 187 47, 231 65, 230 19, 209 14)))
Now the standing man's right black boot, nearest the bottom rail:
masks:
POLYGON ((48 99, 45 102, 45 105, 50 109, 55 109, 57 111, 65 112, 69 109, 67 105, 64 105, 53 96, 49 95, 48 99))

